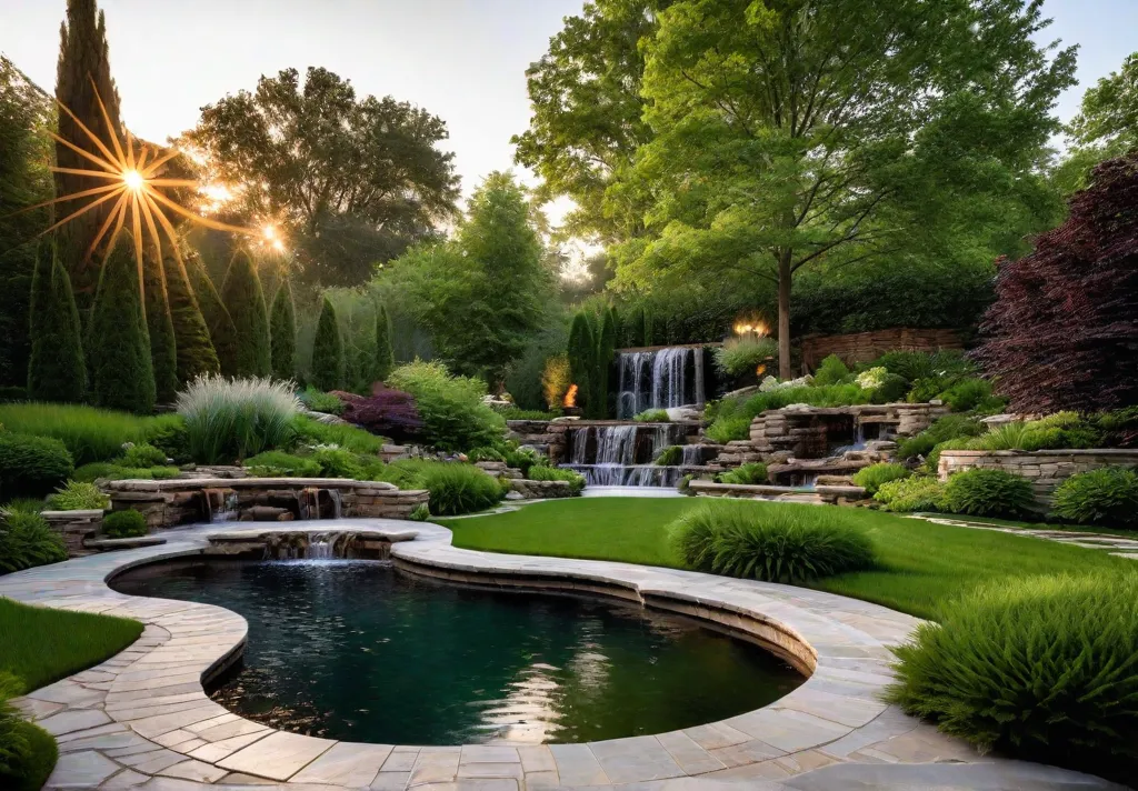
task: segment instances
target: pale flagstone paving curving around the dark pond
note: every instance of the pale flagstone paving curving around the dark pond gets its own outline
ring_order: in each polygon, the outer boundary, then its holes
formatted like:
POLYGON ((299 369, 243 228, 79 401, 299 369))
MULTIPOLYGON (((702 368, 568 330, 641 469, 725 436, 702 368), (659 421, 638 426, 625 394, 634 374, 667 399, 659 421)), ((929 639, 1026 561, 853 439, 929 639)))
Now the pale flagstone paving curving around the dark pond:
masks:
MULTIPOLYGON (((226 525, 225 533, 327 532, 328 526, 241 522, 226 525)), ((881 702, 891 679, 889 646, 905 640, 918 621, 875 604, 675 569, 457 550, 450 545, 448 530, 430 524, 346 519, 337 528, 379 535, 417 532, 414 541, 395 544, 393 555, 397 565, 420 574, 619 595, 715 620, 762 637, 808 668, 810 677, 775 703, 723 722, 585 744, 362 744, 274 731, 228 711, 201 687, 203 677, 244 646, 244 618, 207 604, 122 595, 104 583, 143 562, 199 554, 216 528, 170 530, 162 546, 0 577, 0 595, 146 624, 142 637, 116 657, 17 701, 59 742, 59 763, 47 788, 1116 788, 1087 775, 978 756, 881 702)))

